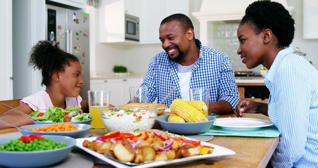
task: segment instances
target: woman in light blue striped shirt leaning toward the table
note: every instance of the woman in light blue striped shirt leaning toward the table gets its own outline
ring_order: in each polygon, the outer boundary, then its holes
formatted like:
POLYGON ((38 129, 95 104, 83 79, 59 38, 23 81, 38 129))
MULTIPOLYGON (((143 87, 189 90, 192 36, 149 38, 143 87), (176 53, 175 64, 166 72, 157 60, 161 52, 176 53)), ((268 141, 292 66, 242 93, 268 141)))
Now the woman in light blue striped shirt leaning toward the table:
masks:
POLYGON ((271 158, 275 168, 318 167, 318 71, 293 54, 294 19, 278 2, 255 1, 245 10, 239 28, 238 54, 247 68, 268 69, 264 82, 267 104, 240 100, 235 114, 268 115, 280 131, 271 158))

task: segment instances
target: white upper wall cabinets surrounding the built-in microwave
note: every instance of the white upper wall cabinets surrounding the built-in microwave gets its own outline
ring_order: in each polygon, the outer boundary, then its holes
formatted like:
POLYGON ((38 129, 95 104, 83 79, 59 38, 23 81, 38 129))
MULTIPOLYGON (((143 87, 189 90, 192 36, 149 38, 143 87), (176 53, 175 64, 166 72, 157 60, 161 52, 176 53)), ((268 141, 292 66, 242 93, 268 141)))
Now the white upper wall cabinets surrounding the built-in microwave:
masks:
POLYGON ((160 43, 160 22, 174 13, 189 16, 189 0, 102 0, 98 8, 98 41, 126 44, 160 43), (125 40, 125 13, 139 17, 139 42, 125 40))

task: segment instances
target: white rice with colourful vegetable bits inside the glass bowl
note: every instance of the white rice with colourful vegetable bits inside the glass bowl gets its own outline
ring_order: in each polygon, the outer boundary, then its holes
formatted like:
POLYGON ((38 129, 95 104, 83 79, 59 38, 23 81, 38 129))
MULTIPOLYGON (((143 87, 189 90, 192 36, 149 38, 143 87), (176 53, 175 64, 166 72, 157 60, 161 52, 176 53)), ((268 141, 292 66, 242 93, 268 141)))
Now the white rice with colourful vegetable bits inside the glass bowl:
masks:
POLYGON ((120 110, 113 115, 104 113, 102 116, 106 129, 110 132, 134 131, 136 129, 151 129, 154 126, 157 115, 153 111, 140 110, 135 113, 125 113, 120 110), (142 117, 138 119, 138 117, 142 117))

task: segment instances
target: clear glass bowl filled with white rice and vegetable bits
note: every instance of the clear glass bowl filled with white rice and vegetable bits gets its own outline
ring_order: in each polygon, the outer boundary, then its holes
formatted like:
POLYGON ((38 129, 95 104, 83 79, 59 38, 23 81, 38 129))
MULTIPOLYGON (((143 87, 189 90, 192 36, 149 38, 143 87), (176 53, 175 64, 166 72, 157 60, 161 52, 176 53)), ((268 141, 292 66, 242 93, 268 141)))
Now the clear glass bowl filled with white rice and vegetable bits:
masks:
POLYGON ((101 109, 100 116, 109 132, 127 132, 153 128, 156 118, 156 108, 113 107, 101 109))

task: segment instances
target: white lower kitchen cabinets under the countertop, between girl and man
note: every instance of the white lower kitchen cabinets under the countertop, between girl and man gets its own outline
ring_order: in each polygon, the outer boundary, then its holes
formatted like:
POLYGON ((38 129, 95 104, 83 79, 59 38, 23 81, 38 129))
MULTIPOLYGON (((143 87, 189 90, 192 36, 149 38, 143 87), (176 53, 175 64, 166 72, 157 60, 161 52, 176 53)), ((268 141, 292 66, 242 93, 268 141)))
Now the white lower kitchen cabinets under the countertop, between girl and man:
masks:
POLYGON ((110 90, 110 103, 119 106, 129 101, 129 87, 140 86, 143 78, 90 80, 91 90, 110 90))

